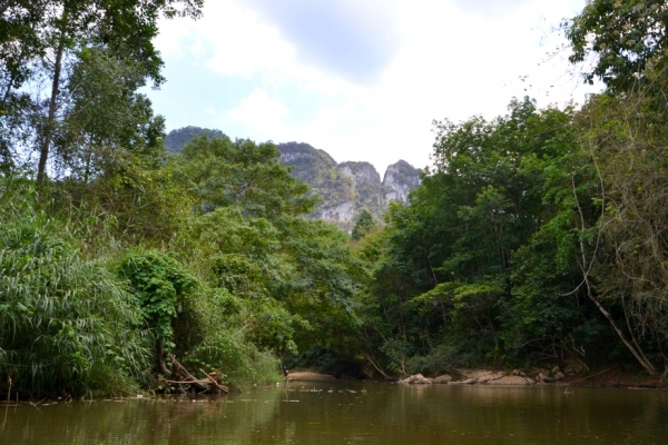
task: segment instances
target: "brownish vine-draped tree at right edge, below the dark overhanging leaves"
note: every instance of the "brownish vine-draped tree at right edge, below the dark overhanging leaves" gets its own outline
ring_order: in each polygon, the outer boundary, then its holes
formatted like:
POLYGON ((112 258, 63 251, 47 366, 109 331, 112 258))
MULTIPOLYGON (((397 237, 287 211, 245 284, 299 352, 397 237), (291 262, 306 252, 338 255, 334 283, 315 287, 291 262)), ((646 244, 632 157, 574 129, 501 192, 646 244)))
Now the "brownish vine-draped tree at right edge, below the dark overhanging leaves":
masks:
MULTIPOLYGON (((646 91, 645 91, 646 92, 646 91)), ((596 198, 602 208, 595 230, 598 247, 582 256, 584 284, 599 309, 638 363, 657 374, 662 350, 668 250, 664 241, 666 186, 662 140, 651 95, 595 97, 582 110, 581 140, 598 172, 596 198), (630 128, 636 130, 629 131, 630 128)))

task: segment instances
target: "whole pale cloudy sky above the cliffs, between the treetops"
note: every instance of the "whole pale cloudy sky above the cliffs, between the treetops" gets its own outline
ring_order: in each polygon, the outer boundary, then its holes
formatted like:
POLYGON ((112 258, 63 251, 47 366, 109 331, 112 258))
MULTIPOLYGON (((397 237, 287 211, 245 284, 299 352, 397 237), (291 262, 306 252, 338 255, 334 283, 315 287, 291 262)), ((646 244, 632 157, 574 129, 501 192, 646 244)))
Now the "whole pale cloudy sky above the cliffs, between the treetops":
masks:
POLYGON ((160 22, 167 130, 307 142, 383 175, 431 164, 433 121, 493 119, 513 97, 582 103, 559 24, 586 0, 206 0, 160 22))

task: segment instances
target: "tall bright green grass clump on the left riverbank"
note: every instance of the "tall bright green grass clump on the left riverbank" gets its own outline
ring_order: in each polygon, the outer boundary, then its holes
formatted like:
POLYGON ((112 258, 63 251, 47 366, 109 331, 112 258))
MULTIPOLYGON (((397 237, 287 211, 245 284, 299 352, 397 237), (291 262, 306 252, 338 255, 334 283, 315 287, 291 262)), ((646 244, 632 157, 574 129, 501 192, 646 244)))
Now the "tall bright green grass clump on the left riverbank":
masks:
POLYGON ((2 382, 28 396, 121 392, 150 362, 130 296, 104 261, 82 258, 29 185, 0 184, 0 205, 2 382))

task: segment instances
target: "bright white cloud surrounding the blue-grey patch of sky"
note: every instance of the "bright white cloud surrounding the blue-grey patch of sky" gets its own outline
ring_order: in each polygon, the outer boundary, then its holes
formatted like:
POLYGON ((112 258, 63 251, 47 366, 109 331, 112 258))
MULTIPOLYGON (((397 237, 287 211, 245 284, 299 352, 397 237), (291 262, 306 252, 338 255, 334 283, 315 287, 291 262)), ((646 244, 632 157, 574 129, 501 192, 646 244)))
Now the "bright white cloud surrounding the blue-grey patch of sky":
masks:
MULTIPOLYGON (((375 82, 365 86, 299 58, 299 42, 249 4, 209 1, 202 20, 180 21, 176 31, 169 28, 174 36, 158 40, 174 57, 190 47, 202 52, 202 41, 206 67, 220 75, 220 82, 243 78, 253 85, 220 121, 233 137, 310 142, 338 161, 369 160, 381 170, 400 158, 423 167, 432 151, 433 119, 493 118, 505 112, 513 96, 534 97, 544 107, 580 99, 586 91, 568 75, 566 53, 546 55, 562 42, 551 27, 576 14, 584 0, 515 1, 502 16, 470 13, 454 0, 396 0, 399 44, 375 82), (291 88, 304 95, 291 95, 291 88), (306 118, 292 119, 304 109, 312 110, 306 118)), ((198 85, 196 76, 193 88, 216 88, 198 85)), ((158 112, 169 119, 169 110, 158 112)))

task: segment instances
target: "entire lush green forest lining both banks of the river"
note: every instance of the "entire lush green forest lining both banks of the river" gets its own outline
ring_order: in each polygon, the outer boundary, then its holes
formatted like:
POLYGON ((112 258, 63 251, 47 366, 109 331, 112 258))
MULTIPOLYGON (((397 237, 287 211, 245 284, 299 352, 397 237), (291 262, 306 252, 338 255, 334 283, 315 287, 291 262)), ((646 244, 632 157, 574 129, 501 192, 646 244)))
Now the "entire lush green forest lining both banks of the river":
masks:
POLYGON ((581 106, 434 121, 433 166, 352 234, 272 142, 179 154, 160 18, 203 0, 0 1, 0 395, 243 388, 577 362, 668 374, 668 6, 562 31, 581 106), (181 374, 179 374, 181 373, 181 374), (180 375, 180 377, 179 377, 180 375))

